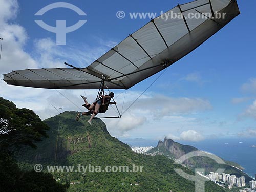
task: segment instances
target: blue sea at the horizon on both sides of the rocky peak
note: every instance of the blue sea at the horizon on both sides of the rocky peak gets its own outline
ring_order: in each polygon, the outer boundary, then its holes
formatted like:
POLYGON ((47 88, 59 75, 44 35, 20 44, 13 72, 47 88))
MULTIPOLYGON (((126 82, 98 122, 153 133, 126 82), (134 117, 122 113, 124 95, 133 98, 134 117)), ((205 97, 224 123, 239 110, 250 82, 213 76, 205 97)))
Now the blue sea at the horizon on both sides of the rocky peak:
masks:
MULTIPOLYGON (((125 140, 124 143, 132 146, 157 146, 158 141, 151 140, 125 140)), ((255 139, 218 139, 204 140, 200 142, 184 142, 178 141, 181 144, 187 144, 198 148, 199 150, 211 152, 225 160, 233 161, 244 167, 244 172, 252 178, 256 174, 256 148, 250 146, 256 145, 255 139)))

